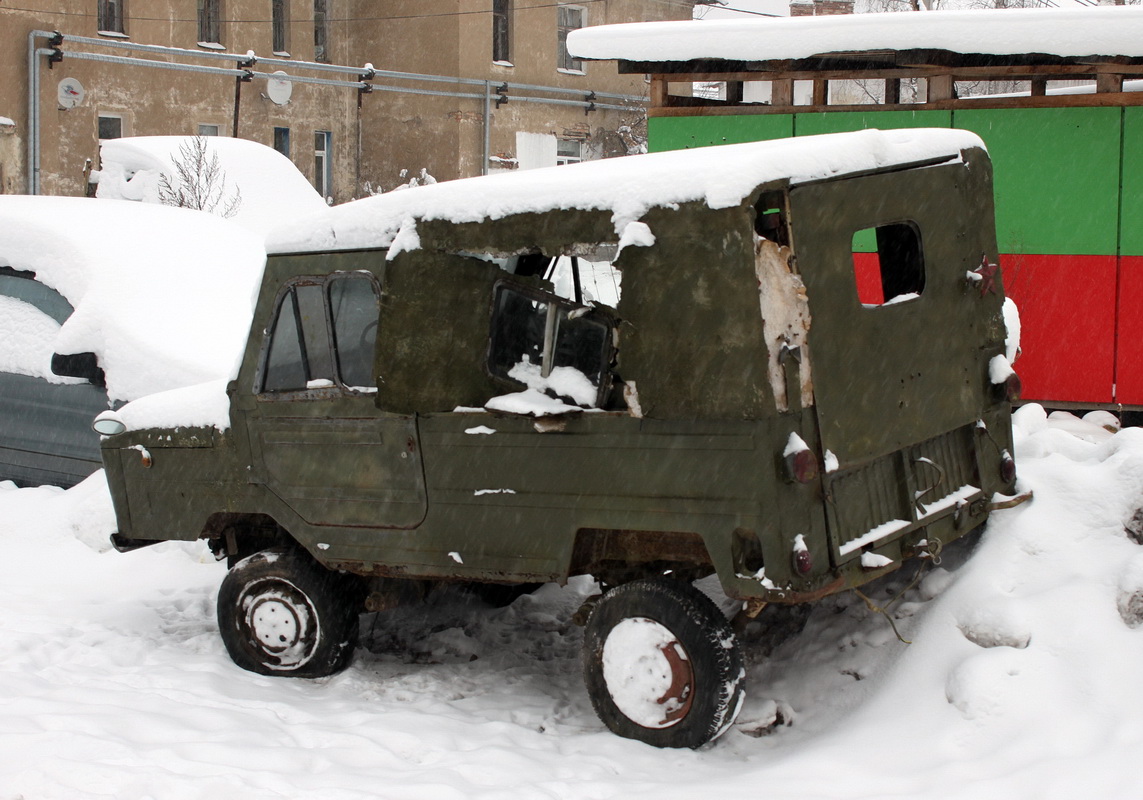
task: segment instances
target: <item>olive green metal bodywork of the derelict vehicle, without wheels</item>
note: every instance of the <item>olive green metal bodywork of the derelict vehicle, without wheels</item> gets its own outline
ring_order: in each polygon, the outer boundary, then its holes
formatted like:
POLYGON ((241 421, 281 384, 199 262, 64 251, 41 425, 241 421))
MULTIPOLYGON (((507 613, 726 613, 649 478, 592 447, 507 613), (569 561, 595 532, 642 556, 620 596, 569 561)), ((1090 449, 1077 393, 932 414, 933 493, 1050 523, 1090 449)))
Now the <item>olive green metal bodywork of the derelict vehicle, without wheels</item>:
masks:
POLYGON ((599 409, 541 419, 479 410, 521 389, 488 367, 497 287, 551 286, 493 258, 614 246, 609 214, 422 221, 421 248, 391 261, 272 256, 229 387, 230 430, 182 446, 165 430, 104 440, 120 533, 217 536, 211 518, 258 514, 361 575, 565 581, 625 562, 714 571, 734 597, 786 602, 864 583, 921 539, 978 526, 992 494, 1013 488, 999 472, 1008 407, 988 377, 1002 290, 968 277, 996 258, 991 173, 982 152, 962 158, 759 186, 722 209, 650 209, 654 243, 615 262, 618 307, 580 309, 615 320, 615 390, 599 409), (781 248, 756 233, 775 202, 790 229, 781 248), (924 288, 863 307, 854 232, 903 222, 924 238, 924 288), (794 315, 808 338, 786 341, 778 361, 767 325, 790 310, 761 293, 767 269, 809 309, 794 315), (290 287, 329 291, 346 275, 379 289, 376 391, 339 378, 264 391, 290 287), (799 447, 828 470, 792 471, 799 447), (799 573, 802 550, 812 566, 799 573))

